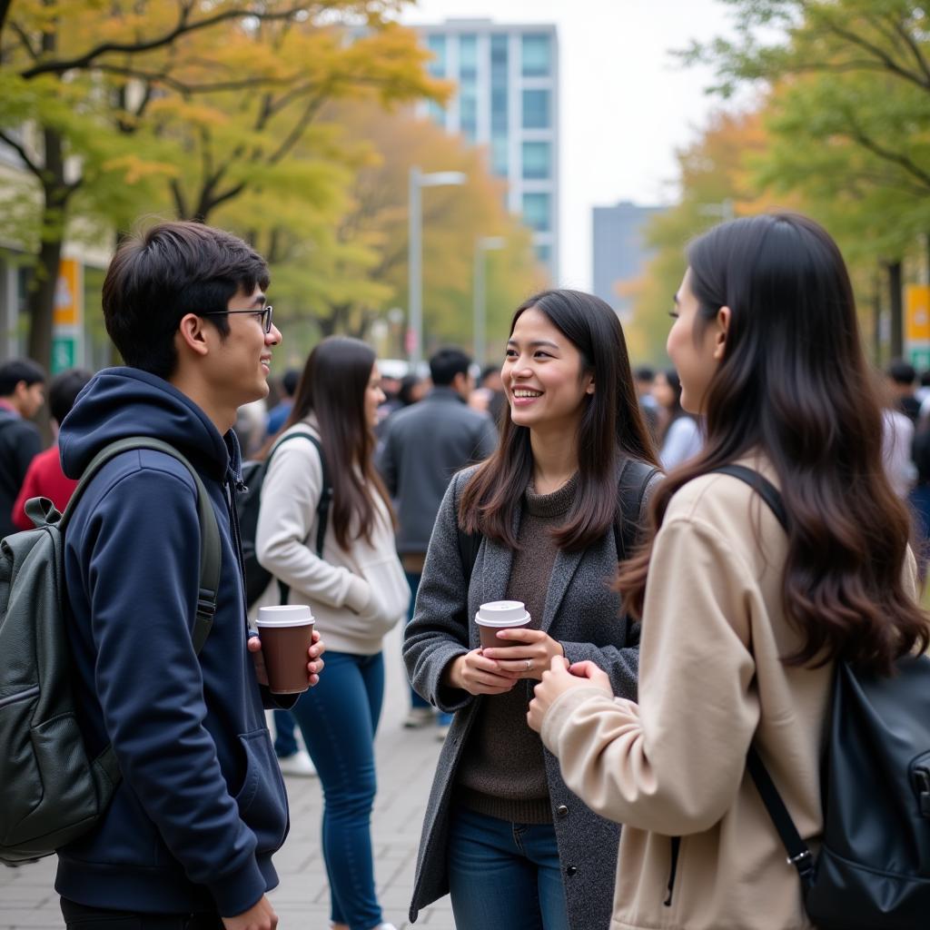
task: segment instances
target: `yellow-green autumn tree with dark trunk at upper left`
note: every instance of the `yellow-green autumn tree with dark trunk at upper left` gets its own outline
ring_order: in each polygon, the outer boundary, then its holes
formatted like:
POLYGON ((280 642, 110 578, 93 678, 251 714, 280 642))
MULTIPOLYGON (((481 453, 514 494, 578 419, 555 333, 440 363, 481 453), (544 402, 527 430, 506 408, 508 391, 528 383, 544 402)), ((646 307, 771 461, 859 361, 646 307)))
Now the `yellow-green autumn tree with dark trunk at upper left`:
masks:
POLYGON ((286 164, 326 100, 358 88, 389 102, 441 93, 412 33, 385 19, 401 3, 0 5, 0 141, 33 177, 20 207, 36 198, 30 354, 47 364, 61 246, 82 194, 121 224, 162 210, 166 184, 175 212, 200 219, 249 188, 335 185, 339 172, 319 162, 309 174, 286 164), (348 26, 361 29, 355 41, 348 26))

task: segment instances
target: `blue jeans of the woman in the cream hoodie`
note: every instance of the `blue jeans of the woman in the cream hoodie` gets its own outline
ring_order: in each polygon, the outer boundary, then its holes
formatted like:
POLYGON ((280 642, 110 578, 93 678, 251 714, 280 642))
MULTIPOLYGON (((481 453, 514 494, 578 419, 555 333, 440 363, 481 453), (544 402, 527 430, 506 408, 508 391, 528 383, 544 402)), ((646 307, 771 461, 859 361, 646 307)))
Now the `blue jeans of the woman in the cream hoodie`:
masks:
POLYGON ((330 920, 352 930, 381 923, 371 851, 375 731, 384 697, 384 659, 326 651, 320 684, 291 711, 323 785, 323 858, 330 920))

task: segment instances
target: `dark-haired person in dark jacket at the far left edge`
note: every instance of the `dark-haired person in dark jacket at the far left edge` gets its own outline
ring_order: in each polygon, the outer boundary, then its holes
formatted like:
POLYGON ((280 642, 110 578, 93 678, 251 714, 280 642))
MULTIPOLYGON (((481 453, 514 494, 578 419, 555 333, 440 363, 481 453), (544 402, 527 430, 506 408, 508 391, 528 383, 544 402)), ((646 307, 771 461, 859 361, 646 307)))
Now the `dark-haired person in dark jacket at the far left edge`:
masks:
POLYGON ((13 504, 29 466, 42 451, 30 420, 46 400, 46 373, 28 358, 0 365, 0 538, 15 533, 13 504))

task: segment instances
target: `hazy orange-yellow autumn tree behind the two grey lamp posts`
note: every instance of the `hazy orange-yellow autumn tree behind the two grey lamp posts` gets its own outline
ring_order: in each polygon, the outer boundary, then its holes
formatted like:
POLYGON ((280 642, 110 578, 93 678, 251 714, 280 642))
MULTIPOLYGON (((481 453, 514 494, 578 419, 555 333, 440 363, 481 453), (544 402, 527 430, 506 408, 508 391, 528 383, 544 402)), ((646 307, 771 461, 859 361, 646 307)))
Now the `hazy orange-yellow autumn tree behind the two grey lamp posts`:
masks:
POLYGON ((343 144, 357 168, 339 219, 292 238, 277 255, 274 299, 287 318, 312 318, 322 335, 362 336, 390 308, 407 306, 407 179, 416 165, 468 177, 423 198, 427 345, 471 345, 474 248, 487 235, 505 241, 487 258, 488 336, 499 341, 513 308, 544 279, 529 231, 504 209, 505 183, 490 175, 486 153, 409 110, 387 112, 371 101, 330 105, 320 127, 352 140, 343 144))

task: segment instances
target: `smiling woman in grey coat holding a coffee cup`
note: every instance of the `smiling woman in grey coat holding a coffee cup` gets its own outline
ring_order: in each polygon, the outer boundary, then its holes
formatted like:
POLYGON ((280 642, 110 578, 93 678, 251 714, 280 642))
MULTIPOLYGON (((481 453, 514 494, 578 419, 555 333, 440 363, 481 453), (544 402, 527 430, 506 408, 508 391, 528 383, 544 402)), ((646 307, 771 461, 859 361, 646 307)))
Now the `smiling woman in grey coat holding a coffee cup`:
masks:
POLYGON ((405 631, 414 687, 455 711, 410 916, 451 892, 459 930, 606 930, 617 827, 566 790, 525 712, 555 656, 590 659, 635 696, 636 631, 610 582, 658 468, 604 301, 569 290, 526 300, 501 376, 498 450, 449 485, 405 631), (524 602, 533 629, 477 648, 475 612, 503 599, 524 602))

